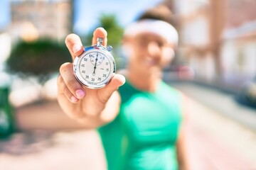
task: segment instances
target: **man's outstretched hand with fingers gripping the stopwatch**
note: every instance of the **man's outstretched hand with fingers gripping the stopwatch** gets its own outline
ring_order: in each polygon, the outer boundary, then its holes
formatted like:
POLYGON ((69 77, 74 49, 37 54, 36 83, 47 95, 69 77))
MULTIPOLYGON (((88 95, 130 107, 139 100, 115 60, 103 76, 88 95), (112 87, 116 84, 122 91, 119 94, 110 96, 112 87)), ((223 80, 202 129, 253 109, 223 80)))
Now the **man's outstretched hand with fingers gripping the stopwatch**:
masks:
MULTIPOLYGON (((97 28, 93 33, 92 44, 97 38, 103 38, 102 45, 107 45, 107 32, 97 28)), ((70 34, 65 39, 70 54, 75 59, 83 52, 78 35, 70 34)), ((63 111, 87 128, 96 128, 110 122, 119 113, 120 96, 116 91, 124 84, 124 77, 115 74, 107 86, 102 89, 87 89, 73 74, 73 63, 60 66, 58 77, 58 103, 63 111)))

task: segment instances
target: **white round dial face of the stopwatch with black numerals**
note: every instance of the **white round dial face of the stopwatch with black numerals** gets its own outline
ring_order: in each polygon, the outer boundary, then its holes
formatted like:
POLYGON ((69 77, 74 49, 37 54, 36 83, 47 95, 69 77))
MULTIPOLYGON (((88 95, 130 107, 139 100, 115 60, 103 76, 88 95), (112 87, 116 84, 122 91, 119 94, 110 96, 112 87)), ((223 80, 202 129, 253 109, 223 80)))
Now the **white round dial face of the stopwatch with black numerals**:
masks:
POLYGON ((82 79, 90 85, 105 84, 114 71, 110 58, 102 52, 92 51, 83 55, 78 63, 82 79))

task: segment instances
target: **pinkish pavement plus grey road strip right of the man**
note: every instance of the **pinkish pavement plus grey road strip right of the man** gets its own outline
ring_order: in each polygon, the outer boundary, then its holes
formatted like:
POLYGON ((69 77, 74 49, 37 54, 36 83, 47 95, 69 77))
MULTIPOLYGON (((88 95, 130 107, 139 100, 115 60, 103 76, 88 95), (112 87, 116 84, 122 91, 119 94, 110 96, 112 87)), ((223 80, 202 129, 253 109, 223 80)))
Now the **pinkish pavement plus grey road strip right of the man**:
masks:
POLYGON ((188 96, 192 169, 256 169, 255 111, 235 103, 223 91, 191 83, 170 84, 188 96))

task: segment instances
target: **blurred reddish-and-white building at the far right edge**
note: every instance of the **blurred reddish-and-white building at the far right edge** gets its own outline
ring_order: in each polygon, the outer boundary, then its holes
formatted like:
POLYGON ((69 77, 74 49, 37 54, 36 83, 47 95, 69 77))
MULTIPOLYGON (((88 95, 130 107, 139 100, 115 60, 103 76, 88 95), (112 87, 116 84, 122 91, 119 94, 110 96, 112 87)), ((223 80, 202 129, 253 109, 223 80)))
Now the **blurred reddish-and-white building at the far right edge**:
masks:
POLYGON ((220 69, 229 84, 256 75, 256 1, 225 0, 220 69))

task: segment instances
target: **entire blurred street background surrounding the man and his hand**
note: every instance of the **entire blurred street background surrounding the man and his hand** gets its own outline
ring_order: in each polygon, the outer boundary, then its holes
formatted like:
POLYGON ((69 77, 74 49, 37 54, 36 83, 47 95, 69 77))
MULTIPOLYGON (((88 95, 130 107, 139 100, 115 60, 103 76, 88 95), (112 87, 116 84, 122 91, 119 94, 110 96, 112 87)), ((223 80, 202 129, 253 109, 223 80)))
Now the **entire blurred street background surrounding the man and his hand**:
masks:
POLYGON ((1 0, 0 169, 105 169, 97 132, 56 101, 65 36, 104 27, 122 69, 125 26, 157 6, 180 36, 164 80, 188 96, 191 169, 256 169, 255 0, 1 0))

